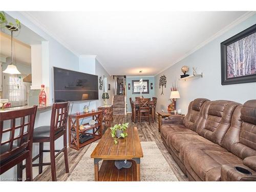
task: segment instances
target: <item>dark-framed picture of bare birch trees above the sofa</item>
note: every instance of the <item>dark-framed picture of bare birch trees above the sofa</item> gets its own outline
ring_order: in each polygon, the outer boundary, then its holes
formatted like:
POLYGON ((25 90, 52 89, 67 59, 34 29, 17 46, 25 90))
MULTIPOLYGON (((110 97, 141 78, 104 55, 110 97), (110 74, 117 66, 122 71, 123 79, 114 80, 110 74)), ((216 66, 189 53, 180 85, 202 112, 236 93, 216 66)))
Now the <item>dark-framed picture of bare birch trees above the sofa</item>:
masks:
POLYGON ((256 24, 221 43, 221 84, 256 82, 256 24))

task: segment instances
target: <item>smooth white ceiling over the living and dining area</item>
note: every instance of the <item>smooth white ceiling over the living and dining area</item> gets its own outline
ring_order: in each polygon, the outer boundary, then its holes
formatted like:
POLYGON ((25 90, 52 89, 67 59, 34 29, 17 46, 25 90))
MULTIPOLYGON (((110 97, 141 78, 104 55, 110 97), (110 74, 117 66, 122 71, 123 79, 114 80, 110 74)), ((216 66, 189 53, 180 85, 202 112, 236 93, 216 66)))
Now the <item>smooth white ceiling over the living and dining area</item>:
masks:
POLYGON ((110 75, 156 75, 246 12, 23 12, 110 75), (118 70, 117 70, 118 69, 118 70))

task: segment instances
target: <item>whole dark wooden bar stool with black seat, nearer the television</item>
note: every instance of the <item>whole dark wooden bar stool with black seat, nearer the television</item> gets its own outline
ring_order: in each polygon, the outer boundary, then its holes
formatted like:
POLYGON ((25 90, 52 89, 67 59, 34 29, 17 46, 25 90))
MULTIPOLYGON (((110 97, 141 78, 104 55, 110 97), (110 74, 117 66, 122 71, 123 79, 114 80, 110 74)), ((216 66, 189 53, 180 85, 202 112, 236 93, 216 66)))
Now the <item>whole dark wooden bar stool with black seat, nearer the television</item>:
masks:
MULTIPOLYGON (((36 155, 32 161, 39 158, 39 163, 35 163, 32 166, 39 167, 39 174, 42 173, 42 166, 51 165, 52 181, 56 181, 56 165, 55 158, 58 157, 61 152, 64 153, 66 173, 69 173, 68 164, 68 150, 67 150, 67 120, 69 114, 69 102, 54 103, 52 106, 51 125, 39 126, 34 129, 33 143, 39 143, 39 154, 36 155), (61 150, 55 150, 54 141, 63 136, 63 148, 61 150), (50 142, 50 150, 44 150, 44 142, 50 142), (43 153, 50 152, 50 161, 48 163, 43 162, 43 153), (55 155, 55 152, 58 152, 55 155)), ((18 168, 18 177, 22 176, 22 170, 24 165, 20 164, 18 168)))

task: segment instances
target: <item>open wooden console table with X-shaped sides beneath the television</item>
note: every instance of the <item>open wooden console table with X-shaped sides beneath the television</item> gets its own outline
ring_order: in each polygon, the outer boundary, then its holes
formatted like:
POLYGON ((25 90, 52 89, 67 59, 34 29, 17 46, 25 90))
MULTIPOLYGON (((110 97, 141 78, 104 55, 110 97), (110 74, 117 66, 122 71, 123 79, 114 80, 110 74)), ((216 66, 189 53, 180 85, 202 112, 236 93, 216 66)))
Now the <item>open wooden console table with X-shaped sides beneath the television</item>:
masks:
POLYGON ((95 111, 90 113, 81 112, 80 115, 69 115, 69 146, 75 150, 79 150, 89 143, 92 143, 102 137, 102 111, 95 111), (95 120, 95 124, 90 127, 79 130, 80 125, 89 125, 89 123, 83 123, 81 119, 92 117, 95 120), (79 137, 82 135, 93 136, 90 140, 80 143, 79 137))

